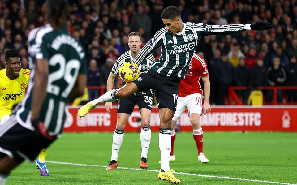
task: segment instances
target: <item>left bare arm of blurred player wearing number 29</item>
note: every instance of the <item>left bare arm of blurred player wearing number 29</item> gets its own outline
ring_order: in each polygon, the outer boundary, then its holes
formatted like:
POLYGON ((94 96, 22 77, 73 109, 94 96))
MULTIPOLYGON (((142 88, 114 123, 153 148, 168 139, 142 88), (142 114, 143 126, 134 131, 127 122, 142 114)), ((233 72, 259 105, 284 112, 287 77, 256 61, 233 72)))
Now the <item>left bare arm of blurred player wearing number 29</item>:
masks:
POLYGON ((35 76, 32 98, 31 121, 39 118, 40 110, 46 97, 46 86, 49 76, 49 65, 47 59, 36 59, 35 76))

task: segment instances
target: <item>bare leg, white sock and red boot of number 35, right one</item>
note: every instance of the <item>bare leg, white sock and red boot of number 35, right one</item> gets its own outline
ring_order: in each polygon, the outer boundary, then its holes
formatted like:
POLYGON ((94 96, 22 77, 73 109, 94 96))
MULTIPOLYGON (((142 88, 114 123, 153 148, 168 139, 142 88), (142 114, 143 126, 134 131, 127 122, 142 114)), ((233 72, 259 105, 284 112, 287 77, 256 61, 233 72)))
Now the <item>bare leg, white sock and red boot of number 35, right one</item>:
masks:
POLYGON ((152 111, 146 108, 140 109, 141 115, 141 131, 140 131, 140 143, 141 143, 141 155, 140 155, 140 168, 148 168, 148 152, 149 143, 151 141, 151 127, 149 125, 152 111))

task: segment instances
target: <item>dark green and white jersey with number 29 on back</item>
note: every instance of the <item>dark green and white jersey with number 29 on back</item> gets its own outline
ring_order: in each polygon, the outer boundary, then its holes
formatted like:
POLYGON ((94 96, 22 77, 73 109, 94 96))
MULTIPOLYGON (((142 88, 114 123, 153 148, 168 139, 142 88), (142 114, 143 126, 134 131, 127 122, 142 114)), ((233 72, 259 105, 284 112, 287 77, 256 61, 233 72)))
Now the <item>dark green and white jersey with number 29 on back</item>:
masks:
POLYGON ((28 35, 30 81, 22 103, 16 109, 16 118, 23 127, 32 130, 31 101, 34 86, 36 59, 47 59, 49 64, 46 97, 39 119, 49 134, 62 133, 66 119, 69 95, 78 74, 86 74, 83 46, 70 35, 65 27, 54 30, 50 24, 33 29, 28 35))

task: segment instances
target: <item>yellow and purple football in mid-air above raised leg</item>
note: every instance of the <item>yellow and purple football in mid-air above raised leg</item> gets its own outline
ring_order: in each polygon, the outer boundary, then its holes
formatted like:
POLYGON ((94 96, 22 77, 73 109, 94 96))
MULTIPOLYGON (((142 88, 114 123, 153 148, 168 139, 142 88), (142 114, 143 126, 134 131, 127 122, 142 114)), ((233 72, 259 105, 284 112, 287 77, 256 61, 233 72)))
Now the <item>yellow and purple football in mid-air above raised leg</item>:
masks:
POLYGON ((139 77, 140 70, 136 63, 125 62, 121 65, 118 75, 124 82, 133 82, 139 77))

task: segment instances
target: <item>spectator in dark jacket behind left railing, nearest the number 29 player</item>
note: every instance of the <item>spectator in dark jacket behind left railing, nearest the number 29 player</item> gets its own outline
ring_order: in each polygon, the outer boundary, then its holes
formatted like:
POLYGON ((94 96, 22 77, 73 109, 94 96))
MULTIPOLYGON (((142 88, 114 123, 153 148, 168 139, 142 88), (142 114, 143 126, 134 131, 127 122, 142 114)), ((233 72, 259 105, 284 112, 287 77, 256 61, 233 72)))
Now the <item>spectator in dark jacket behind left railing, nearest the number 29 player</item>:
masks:
MULTIPOLYGON (((88 67, 88 86, 100 85, 100 69, 97 67, 97 61, 95 59, 90 60, 88 67)), ((88 89, 89 101, 97 99, 99 97, 98 89, 88 89)))

